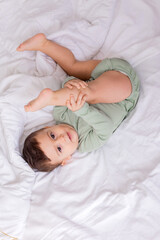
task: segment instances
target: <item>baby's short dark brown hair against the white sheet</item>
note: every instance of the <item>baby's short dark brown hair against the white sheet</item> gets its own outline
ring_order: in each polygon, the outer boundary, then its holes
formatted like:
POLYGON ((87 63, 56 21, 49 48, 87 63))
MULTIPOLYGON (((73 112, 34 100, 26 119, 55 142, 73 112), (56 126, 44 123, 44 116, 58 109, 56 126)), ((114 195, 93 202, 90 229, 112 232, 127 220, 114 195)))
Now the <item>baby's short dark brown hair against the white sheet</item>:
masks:
POLYGON ((32 132, 25 140, 23 147, 23 158, 33 169, 38 169, 42 172, 50 172, 60 164, 52 164, 51 159, 48 158, 40 148, 40 144, 36 139, 38 133, 44 128, 32 132))

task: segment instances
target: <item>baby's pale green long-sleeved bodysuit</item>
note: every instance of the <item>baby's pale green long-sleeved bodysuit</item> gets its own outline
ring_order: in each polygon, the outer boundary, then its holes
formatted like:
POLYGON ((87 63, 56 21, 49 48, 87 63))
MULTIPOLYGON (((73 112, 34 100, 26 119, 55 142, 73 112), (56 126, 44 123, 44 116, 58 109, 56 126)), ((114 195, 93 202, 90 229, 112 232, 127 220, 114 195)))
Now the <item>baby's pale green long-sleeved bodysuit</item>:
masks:
MULTIPOLYGON (((99 103, 83 107, 72 112, 65 106, 56 106, 53 116, 56 123, 66 123, 75 128, 79 136, 78 150, 91 152, 105 144, 120 123, 136 106, 139 96, 139 80, 136 72, 125 60, 112 58, 104 59, 92 71, 88 81, 94 81, 106 71, 120 71, 126 74, 132 83, 132 93, 125 100, 118 103, 99 103)), ((65 82, 75 77, 68 77, 65 82)))

